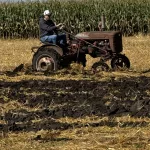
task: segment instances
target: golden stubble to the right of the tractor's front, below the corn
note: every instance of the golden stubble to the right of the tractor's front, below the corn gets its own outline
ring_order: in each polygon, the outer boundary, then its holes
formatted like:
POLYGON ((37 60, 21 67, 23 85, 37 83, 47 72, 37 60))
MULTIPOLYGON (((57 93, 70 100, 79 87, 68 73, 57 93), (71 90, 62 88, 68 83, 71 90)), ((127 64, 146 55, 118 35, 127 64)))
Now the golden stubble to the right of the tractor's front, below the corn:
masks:
POLYGON ((150 36, 124 37, 124 53, 131 61, 134 71, 150 70, 150 36))

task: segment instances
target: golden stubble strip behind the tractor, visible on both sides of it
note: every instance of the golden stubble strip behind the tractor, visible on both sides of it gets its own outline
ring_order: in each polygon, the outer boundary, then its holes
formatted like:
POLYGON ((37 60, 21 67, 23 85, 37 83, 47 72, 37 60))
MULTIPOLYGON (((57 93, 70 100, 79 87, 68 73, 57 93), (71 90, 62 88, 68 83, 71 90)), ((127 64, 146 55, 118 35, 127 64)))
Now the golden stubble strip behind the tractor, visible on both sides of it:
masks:
MULTIPOLYGON (((123 37, 123 53, 131 61, 131 70, 142 72, 150 69, 150 37, 134 36, 123 37)), ((0 71, 12 70, 16 66, 23 64, 31 65, 33 53, 32 46, 39 46, 38 39, 28 40, 0 40, 0 71)), ((92 64, 98 58, 92 58, 87 55, 87 67, 91 68, 92 64)), ((110 64, 110 62, 109 62, 110 64)))

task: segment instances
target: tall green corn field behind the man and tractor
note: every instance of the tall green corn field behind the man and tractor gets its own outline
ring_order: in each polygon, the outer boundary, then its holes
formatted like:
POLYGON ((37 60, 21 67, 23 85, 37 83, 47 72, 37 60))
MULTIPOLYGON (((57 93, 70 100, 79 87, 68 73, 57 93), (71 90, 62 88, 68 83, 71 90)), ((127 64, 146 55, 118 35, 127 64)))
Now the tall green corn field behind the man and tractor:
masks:
POLYGON ((54 22, 65 23, 73 33, 98 30, 102 14, 106 30, 121 30, 126 36, 149 33, 150 0, 49 0, 0 2, 0 38, 38 38, 39 17, 46 9, 54 22))

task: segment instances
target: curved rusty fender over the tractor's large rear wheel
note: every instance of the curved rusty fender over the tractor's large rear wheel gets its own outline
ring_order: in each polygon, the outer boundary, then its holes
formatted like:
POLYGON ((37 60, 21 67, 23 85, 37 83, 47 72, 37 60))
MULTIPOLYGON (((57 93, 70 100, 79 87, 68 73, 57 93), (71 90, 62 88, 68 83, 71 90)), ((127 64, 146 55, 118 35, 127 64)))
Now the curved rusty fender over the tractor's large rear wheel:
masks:
POLYGON ((60 56, 63 56, 63 50, 62 48, 60 48, 58 45, 55 45, 55 44, 45 44, 45 45, 42 45, 40 47, 36 46, 36 47, 32 47, 31 50, 32 52, 35 53, 34 49, 37 49, 37 51, 42 51, 43 48, 49 48, 49 49, 53 49, 55 50, 60 56))

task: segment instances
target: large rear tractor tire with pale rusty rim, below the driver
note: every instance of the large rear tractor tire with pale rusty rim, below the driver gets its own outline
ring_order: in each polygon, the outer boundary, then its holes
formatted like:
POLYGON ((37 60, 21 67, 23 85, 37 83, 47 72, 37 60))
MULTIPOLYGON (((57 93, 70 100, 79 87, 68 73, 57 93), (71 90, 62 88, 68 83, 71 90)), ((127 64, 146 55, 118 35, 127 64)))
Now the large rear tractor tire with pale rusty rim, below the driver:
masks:
POLYGON ((57 71, 58 70, 58 57, 54 49, 42 48, 39 49, 33 56, 32 67, 34 71, 57 71))

